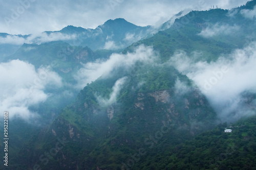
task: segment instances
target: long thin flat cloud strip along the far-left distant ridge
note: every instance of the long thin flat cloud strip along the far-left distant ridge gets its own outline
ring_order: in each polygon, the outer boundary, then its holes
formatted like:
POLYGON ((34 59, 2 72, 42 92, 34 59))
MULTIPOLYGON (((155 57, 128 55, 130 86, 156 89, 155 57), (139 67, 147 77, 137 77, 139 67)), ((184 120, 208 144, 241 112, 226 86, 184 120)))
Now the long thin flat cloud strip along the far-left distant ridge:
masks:
POLYGON ((6 37, 0 37, 0 44, 15 44, 22 45, 23 43, 35 43, 41 44, 50 41, 60 41, 60 40, 72 40, 75 39, 76 35, 68 35, 62 33, 40 33, 37 35, 29 35, 28 37, 18 36, 18 35, 7 35, 6 37))

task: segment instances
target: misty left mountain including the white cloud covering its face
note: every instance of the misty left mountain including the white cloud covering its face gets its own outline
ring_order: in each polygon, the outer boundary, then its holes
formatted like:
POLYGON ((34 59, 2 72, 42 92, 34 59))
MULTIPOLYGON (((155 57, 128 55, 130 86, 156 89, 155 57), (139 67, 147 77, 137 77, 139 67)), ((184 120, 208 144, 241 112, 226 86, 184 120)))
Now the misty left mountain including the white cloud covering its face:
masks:
MULTIPOLYGON (((9 128, 13 132, 10 136, 16 139, 12 141, 10 152, 17 154, 28 138, 51 124, 61 109, 75 99, 80 90, 79 80, 75 75, 83 67, 83 63, 104 60, 112 53, 113 51, 108 50, 94 52, 87 46, 71 46, 66 42, 52 41, 39 45, 24 43, 15 54, 4 58, 3 61, 8 65, 5 69, 17 70, 12 74, 22 73, 21 77, 31 77, 24 79, 23 83, 19 81, 19 86, 15 85, 13 79, 9 88, 14 96, 2 101, 12 111, 12 121, 19 124, 9 128), (22 93, 24 90, 25 95, 22 93), (27 132, 26 138, 21 133, 23 131, 27 132)), ((6 93, 3 92, 2 95, 6 93)))

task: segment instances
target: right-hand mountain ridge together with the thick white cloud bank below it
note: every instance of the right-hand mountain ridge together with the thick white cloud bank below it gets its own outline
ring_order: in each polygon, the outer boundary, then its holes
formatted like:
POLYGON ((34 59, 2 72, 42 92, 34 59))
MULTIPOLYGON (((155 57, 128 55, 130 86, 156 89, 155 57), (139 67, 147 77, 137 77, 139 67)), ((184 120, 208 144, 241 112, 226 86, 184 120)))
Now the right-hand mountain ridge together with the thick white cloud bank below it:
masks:
POLYGON ((255 94, 254 86, 249 85, 255 80, 251 75, 255 63, 254 6, 251 1, 231 10, 191 11, 169 29, 134 43, 125 52, 140 44, 153 46, 162 62, 171 61, 199 86, 223 121, 228 115, 237 120, 254 113, 245 104, 250 101, 249 93, 255 94))

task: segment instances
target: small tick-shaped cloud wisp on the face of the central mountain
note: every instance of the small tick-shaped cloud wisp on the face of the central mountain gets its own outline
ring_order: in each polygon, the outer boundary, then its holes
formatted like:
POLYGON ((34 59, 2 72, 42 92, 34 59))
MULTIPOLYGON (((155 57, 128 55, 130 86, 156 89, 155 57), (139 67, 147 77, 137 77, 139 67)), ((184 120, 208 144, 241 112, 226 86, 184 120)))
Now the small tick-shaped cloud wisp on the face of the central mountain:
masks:
POLYGON ((110 93, 109 99, 102 98, 102 96, 97 96, 97 94, 96 94, 96 99, 97 99, 99 105, 102 107, 106 107, 106 106, 109 106, 109 105, 115 103, 119 96, 120 90, 122 89, 124 83, 126 83, 127 81, 128 81, 127 77, 118 79, 116 81, 115 85, 112 87, 112 92, 110 93))

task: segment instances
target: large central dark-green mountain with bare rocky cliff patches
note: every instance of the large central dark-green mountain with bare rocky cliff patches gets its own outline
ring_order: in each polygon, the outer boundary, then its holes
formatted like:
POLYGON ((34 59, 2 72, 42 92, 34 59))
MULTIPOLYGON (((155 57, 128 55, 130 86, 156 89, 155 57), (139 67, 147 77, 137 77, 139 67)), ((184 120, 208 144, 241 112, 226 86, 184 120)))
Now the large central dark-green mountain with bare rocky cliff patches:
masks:
POLYGON ((212 128, 214 119, 216 114, 207 100, 185 76, 167 64, 138 62, 131 71, 118 68, 111 78, 100 78, 84 87, 73 105, 20 155, 30 158, 30 162, 22 160, 29 165, 26 168, 38 164, 43 169, 120 169, 140 147, 151 152, 158 140, 159 145, 178 144, 203 128, 212 128), (162 85, 152 81, 152 76, 162 85), (142 80, 144 84, 138 86, 142 80), (119 95, 111 102, 120 81, 119 95), (185 89, 179 89, 177 83, 189 89, 182 91, 185 89), (47 163, 39 159, 62 137, 69 142, 53 159, 47 163))

